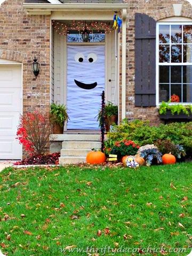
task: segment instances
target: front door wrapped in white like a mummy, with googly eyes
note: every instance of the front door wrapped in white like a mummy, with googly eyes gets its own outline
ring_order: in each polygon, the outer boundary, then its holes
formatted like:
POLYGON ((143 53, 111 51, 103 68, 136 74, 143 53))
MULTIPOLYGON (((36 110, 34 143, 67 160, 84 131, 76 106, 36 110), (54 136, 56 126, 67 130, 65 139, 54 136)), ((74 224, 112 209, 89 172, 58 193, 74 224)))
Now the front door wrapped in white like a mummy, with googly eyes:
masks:
POLYGON ((105 46, 67 46, 67 130, 99 130, 105 91, 105 46))

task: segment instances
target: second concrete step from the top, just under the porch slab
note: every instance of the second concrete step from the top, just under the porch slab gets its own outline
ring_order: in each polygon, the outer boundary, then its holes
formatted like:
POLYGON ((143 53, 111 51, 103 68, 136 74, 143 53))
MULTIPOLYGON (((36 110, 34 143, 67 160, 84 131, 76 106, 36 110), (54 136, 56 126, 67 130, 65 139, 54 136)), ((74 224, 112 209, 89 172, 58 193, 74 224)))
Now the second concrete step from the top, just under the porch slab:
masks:
POLYGON ((100 141, 63 141, 62 142, 62 149, 81 149, 81 148, 97 148, 101 147, 100 141))

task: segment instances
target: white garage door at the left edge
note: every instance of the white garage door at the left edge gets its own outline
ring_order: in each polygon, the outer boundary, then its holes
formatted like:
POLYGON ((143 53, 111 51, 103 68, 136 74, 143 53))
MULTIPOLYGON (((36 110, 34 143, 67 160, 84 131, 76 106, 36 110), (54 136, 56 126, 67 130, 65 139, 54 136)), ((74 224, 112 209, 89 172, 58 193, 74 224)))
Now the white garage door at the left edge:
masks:
POLYGON ((0 159, 21 159, 16 140, 21 114, 21 65, 0 64, 0 159))

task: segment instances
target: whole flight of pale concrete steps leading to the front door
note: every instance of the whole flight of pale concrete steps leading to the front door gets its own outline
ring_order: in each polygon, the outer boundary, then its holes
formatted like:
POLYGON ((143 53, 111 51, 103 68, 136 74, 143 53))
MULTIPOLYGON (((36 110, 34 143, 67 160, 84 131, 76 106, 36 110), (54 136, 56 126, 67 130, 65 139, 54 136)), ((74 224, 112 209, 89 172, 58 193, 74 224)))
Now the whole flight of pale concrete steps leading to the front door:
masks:
POLYGON ((59 164, 86 162, 86 155, 91 149, 101 147, 100 134, 62 134, 62 139, 59 164))

